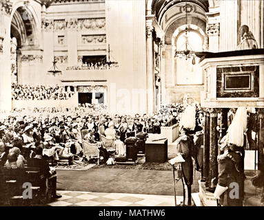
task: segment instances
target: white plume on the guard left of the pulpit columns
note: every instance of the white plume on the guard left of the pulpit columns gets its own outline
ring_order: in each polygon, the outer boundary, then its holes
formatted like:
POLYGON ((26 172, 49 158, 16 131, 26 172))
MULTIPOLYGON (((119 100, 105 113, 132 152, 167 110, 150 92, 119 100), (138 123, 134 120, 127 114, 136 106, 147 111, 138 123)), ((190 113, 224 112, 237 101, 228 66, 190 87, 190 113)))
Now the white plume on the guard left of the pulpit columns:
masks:
POLYGON ((181 115, 179 129, 181 128, 194 130, 195 128, 195 107, 188 105, 181 115))

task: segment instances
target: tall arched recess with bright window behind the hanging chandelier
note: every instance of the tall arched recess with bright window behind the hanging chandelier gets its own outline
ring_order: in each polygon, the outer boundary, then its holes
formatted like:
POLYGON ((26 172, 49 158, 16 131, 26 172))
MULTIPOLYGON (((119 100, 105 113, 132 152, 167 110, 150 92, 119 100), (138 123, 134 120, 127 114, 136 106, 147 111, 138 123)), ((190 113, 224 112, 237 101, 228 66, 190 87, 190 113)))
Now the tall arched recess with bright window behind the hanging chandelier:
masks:
POLYGON ((203 90, 203 74, 199 68, 199 58, 174 58, 175 50, 185 47, 185 27, 189 44, 193 51, 207 50, 206 12, 208 1, 154 1, 152 13, 156 15, 164 32, 163 78, 165 79, 165 104, 181 102, 184 94, 190 94, 200 101, 203 90))

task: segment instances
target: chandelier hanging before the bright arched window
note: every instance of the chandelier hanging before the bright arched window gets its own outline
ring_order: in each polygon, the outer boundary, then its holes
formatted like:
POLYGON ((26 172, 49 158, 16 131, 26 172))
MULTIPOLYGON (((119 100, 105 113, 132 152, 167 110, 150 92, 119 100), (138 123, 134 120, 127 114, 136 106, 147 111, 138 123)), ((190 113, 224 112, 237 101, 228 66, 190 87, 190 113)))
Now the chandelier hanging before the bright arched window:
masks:
POLYGON ((195 65, 195 52, 192 50, 192 47, 189 44, 189 32, 187 28, 187 1, 185 1, 185 50, 175 50, 174 57, 175 58, 185 58, 187 61, 188 59, 192 58, 192 65, 195 65))

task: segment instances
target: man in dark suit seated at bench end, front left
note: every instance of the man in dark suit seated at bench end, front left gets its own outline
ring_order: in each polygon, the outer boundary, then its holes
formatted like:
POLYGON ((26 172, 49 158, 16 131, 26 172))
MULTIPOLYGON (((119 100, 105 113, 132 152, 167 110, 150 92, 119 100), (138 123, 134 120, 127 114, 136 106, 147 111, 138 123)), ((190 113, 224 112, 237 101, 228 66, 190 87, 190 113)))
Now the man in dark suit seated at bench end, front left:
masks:
MULTIPOLYGON (((28 161, 28 166, 39 167, 42 179, 48 179, 48 184, 51 189, 51 199, 59 199, 61 195, 57 195, 57 174, 56 170, 52 170, 48 165, 48 162, 42 157, 43 149, 37 146, 34 149, 36 154, 34 158, 28 161)), ((44 187, 44 185, 42 185, 44 187)), ((44 191, 44 189, 42 189, 44 191)), ((43 192, 42 191, 42 192, 43 192)))

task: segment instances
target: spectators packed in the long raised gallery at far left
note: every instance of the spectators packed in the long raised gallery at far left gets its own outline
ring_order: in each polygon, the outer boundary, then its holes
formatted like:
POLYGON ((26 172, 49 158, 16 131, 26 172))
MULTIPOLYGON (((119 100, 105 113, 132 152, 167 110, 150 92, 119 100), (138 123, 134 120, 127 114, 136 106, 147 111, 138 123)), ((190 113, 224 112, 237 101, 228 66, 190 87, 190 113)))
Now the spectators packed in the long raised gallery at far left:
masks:
POLYGON ((64 87, 31 86, 12 84, 12 98, 14 100, 68 100, 74 91, 65 91, 64 87))

